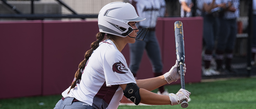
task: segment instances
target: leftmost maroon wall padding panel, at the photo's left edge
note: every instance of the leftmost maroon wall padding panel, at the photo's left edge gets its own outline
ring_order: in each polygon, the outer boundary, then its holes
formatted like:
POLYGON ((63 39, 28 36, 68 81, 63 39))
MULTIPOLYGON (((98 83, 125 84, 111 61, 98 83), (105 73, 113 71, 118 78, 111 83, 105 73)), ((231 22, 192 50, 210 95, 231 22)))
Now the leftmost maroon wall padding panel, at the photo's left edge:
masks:
POLYGON ((0 22, 0 98, 41 94, 41 21, 0 22))

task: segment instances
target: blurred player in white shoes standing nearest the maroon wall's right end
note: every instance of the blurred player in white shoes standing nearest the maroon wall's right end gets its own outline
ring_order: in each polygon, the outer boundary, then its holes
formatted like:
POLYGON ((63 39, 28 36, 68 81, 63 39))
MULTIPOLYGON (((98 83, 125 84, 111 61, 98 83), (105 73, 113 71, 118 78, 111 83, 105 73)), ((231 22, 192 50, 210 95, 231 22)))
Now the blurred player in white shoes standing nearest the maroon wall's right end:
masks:
POLYGON ((202 67, 203 75, 210 76, 219 74, 214 68, 211 68, 211 61, 213 60, 212 52, 214 51, 215 39, 219 32, 218 16, 212 15, 212 9, 219 7, 215 0, 197 0, 197 15, 204 18, 203 20, 203 41, 204 53, 202 67))

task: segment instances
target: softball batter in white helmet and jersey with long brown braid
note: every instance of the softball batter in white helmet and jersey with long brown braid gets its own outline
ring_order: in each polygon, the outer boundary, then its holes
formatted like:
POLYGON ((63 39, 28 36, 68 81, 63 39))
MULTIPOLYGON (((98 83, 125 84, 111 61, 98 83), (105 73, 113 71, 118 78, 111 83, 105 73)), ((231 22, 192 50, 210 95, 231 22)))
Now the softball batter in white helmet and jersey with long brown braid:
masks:
POLYGON ((101 9, 97 41, 91 44, 85 59, 79 64, 72 85, 62 93, 63 98, 54 109, 117 109, 123 94, 136 105, 140 102, 177 105, 182 100, 188 101, 190 92, 184 89, 169 96, 150 92, 180 78, 177 61, 169 72, 146 80, 135 80, 127 68, 121 51, 127 43, 135 43, 135 39, 142 40, 136 36, 139 30, 135 25, 142 20, 145 19, 138 17, 135 8, 129 3, 114 2, 101 9), (107 39, 103 40, 105 33, 107 39))

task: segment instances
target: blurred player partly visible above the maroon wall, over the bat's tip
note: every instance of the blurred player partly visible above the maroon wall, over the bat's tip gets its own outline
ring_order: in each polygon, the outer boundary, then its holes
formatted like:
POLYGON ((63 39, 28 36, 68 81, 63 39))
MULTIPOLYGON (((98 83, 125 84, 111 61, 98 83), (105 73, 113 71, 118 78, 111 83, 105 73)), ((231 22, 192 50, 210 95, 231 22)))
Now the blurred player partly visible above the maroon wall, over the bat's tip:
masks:
POLYGON ((191 7, 193 7, 192 0, 179 0, 181 4, 180 16, 192 17, 191 7))

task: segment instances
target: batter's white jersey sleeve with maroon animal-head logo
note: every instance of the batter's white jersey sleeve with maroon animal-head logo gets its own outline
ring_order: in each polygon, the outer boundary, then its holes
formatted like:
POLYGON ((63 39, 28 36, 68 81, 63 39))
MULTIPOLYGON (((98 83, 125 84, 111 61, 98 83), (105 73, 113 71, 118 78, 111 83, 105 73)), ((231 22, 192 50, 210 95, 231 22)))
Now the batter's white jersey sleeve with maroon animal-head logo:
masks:
POLYGON ((136 83, 131 70, 127 67, 123 54, 117 50, 105 53, 103 70, 106 86, 136 83))

